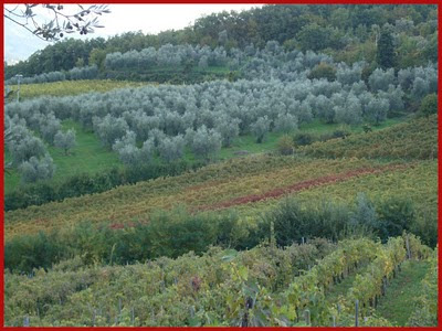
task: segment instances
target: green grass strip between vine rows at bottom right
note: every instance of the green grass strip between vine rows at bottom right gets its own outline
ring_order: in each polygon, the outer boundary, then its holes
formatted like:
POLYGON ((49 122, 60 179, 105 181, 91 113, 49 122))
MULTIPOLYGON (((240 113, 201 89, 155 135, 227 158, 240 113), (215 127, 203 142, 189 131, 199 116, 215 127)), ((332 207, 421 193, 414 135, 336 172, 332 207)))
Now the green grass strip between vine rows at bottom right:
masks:
POLYGON ((422 291, 422 279, 429 269, 427 261, 407 260, 402 270, 392 279, 387 288, 387 295, 380 299, 376 309, 396 325, 406 325, 414 310, 413 301, 422 291))

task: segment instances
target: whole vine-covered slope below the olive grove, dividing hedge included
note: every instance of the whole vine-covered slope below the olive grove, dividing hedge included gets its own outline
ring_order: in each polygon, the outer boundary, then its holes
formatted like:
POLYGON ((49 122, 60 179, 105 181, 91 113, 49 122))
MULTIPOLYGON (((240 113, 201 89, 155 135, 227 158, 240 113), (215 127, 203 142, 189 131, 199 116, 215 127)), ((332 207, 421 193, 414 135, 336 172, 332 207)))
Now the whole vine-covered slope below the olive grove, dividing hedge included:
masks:
POLYGON ((433 325, 436 250, 393 236, 435 245, 435 124, 7 212, 6 323, 433 325))

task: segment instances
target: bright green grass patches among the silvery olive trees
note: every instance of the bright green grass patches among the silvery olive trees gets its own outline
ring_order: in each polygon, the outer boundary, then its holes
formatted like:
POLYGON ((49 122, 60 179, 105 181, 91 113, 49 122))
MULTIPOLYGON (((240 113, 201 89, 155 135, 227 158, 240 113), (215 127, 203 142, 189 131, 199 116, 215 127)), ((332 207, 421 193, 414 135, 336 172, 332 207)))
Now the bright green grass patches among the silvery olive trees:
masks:
MULTIPOLYGON (((388 119, 381 126, 373 127, 373 129, 386 128, 403 120, 403 118, 388 119)), ((326 132, 333 132, 339 127, 341 127, 341 125, 323 124, 316 120, 302 126, 297 132, 323 135, 326 132)), ((76 173, 96 173, 108 170, 115 166, 123 167, 122 162, 118 160, 118 156, 114 151, 103 148, 97 137, 93 132, 85 131, 80 124, 72 120, 65 120, 63 121, 63 128, 64 130, 70 128, 76 130, 77 146, 67 156, 65 156, 61 149, 46 146, 56 166, 52 181, 60 182, 76 173)), ((351 131, 361 132, 362 126, 354 126, 351 127, 351 131)), ((290 135, 293 136, 295 132, 291 132, 290 135)), ((238 137, 234 139, 231 147, 221 149, 217 160, 222 161, 235 158, 238 157, 238 151, 262 153, 275 150, 277 141, 284 134, 281 132, 270 132, 266 135, 266 138, 262 143, 256 143, 256 139, 252 135, 238 137)), ((4 153, 4 158, 7 162, 11 159, 8 151, 4 153)), ((191 163, 197 161, 189 148, 186 149, 185 160, 191 163)), ((9 174, 4 174, 4 193, 11 192, 19 185, 20 174, 17 170, 12 170, 9 174)))

